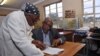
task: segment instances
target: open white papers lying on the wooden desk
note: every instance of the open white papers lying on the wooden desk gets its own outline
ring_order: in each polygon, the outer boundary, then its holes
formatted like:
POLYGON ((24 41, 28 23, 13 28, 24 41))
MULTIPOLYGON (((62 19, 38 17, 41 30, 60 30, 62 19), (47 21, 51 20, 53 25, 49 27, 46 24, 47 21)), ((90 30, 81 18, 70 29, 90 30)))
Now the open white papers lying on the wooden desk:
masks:
POLYGON ((44 53, 50 54, 50 55, 57 55, 62 51, 64 51, 64 49, 54 48, 54 47, 47 47, 45 50, 43 50, 44 53))

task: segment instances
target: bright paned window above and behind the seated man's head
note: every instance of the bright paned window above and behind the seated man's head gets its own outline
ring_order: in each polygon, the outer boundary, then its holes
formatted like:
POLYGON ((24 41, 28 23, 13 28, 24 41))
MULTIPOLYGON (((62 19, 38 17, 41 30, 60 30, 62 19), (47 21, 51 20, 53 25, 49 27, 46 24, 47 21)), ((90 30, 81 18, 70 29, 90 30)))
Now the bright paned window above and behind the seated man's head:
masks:
POLYGON ((45 7, 45 17, 49 17, 50 14, 56 14, 56 17, 63 17, 62 2, 54 3, 45 7))

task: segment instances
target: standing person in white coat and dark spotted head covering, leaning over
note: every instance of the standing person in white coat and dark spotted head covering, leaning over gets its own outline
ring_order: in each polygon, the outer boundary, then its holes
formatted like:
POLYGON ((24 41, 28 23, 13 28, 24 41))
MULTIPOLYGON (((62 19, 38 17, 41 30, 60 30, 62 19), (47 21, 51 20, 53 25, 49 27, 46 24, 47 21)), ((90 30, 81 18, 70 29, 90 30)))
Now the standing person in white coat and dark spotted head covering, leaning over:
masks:
POLYGON ((23 10, 8 14, 0 28, 0 56, 44 56, 32 44, 32 25, 39 20, 39 11, 27 3, 23 10))

